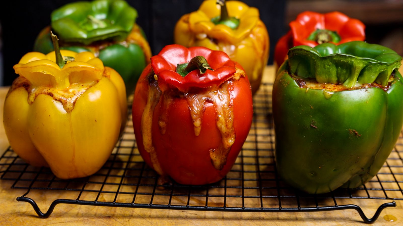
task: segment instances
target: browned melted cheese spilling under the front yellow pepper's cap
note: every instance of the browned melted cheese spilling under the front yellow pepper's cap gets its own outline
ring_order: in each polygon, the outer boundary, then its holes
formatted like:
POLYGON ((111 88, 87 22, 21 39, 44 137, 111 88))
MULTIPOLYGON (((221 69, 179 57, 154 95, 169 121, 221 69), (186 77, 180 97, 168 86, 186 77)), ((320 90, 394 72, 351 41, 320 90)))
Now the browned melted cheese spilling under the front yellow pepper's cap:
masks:
POLYGON ((19 76, 12 83, 11 89, 15 90, 19 87, 24 87, 28 92, 28 103, 32 104, 36 97, 40 94, 45 94, 52 97, 55 101, 60 101, 66 112, 71 112, 79 97, 91 86, 95 85, 98 81, 91 81, 86 83, 73 83, 68 88, 56 89, 47 86, 33 86, 26 78, 19 76))

